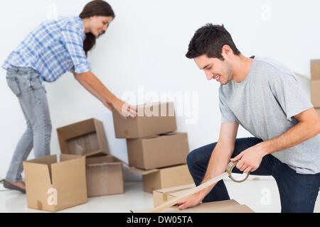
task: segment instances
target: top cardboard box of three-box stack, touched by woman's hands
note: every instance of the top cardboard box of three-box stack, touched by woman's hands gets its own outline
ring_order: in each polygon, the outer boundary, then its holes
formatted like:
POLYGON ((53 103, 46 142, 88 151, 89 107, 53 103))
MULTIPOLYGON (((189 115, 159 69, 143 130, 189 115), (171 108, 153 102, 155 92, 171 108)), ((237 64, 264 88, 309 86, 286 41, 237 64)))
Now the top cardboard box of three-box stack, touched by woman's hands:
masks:
POLYGON ((174 103, 144 104, 137 109, 138 116, 127 119, 112 111, 116 138, 144 138, 176 131, 174 103))

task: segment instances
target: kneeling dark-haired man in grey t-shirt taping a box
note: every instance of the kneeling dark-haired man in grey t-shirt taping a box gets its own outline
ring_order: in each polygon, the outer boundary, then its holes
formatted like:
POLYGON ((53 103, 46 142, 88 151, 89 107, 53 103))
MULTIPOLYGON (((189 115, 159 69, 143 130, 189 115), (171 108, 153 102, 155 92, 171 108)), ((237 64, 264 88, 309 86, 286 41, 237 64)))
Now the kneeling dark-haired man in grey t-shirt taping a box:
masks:
MULTIPOLYGON (((221 84, 218 143, 187 157, 196 185, 225 172, 230 160, 239 160, 233 172, 274 177, 282 212, 313 212, 320 187, 320 120, 294 74, 270 58, 243 56, 230 33, 212 24, 196 31, 186 57, 208 80, 221 84), (255 137, 237 139, 239 124, 255 137)), ((220 180, 178 205, 186 209, 226 199, 220 180)))

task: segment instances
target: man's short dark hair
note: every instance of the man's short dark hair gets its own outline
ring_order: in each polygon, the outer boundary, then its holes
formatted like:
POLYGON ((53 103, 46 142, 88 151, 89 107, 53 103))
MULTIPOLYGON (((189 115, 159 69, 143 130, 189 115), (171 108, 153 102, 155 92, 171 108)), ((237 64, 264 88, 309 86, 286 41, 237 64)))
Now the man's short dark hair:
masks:
POLYGON ((223 25, 207 23, 193 35, 186 57, 195 58, 206 54, 208 57, 224 60, 222 55, 223 45, 229 45, 235 55, 240 55, 240 51, 233 43, 233 38, 223 25))

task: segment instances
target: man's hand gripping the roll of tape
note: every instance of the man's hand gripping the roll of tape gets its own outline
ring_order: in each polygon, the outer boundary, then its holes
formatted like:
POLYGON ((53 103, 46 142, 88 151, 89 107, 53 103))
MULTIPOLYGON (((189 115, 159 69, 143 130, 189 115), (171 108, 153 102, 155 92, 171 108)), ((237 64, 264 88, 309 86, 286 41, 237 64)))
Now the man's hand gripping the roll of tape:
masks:
POLYGON ((245 173, 254 172, 260 167, 262 157, 265 156, 265 149, 261 145, 261 143, 252 146, 251 148, 247 148, 243 150, 242 153, 237 155, 236 157, 231 158, 231 162, 238 161, 236 167, 245 173))

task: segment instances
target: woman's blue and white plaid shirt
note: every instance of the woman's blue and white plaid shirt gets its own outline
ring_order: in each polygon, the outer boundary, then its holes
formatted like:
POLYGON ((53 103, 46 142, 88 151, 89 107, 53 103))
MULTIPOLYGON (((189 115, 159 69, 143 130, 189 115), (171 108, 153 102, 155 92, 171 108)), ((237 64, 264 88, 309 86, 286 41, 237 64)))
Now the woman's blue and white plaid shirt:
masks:
POLYGON ((31 67, 40 75, 41 83, 54 82, 67 71, 89 72, 84 40, 85 27, 78 16, 45 21, 11 52, 2 67, 31 67))

